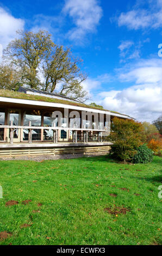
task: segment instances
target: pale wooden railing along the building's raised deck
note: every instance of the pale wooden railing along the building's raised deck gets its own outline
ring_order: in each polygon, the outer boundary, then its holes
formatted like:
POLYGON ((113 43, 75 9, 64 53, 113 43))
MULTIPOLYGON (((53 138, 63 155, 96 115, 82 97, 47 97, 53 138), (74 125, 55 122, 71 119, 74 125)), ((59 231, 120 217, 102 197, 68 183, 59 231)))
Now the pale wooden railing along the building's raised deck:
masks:
POLYGON ((83 129, 74 127, 46 127, 46 126, 32 126, 29 122, 28 126, 0 125, 0 141, 11 143, 14 142, 103 142, 108 141, 107 136, 104 136, 105 130, 101 129, 83 129), (61 130, 67 133, 67 136, 60 136, 61 130), (8 132, 5 132, 8 131, 8 132), (18 141, 19 140, 19 141, 18 141))

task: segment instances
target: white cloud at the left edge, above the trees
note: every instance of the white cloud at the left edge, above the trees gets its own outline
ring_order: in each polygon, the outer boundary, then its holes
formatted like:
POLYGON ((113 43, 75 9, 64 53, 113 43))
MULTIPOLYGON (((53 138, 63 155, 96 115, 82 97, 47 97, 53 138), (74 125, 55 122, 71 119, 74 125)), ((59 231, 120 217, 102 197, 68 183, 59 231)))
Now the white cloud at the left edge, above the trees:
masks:
POLYGON ((0 44, 6 47, 16 36, 17 30, 23 30, 24 20, 16 19, 0 7, 0 44))

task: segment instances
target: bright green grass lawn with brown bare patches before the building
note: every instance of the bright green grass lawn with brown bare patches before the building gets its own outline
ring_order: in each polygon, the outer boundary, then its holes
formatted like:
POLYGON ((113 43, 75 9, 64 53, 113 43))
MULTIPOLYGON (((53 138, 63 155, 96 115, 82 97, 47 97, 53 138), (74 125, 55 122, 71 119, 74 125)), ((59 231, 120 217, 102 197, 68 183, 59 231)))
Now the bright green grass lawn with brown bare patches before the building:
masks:
POLYGON ((1 161, 0 244, 161 244, 161 164, 158 156, 135 165, 105 156, 1 161))

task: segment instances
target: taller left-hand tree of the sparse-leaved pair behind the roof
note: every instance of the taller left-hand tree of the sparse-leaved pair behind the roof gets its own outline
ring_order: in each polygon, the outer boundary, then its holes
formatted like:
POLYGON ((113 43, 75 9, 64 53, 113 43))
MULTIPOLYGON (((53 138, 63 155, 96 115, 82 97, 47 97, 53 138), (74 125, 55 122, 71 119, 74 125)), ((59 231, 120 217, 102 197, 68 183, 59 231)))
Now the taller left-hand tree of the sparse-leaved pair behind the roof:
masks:
POLYGON ((51 53, 54 46, 51 35, 46 31, 38 33, 18 31, 20 39, 11 41, 4 50, 4 58, 11 60, 21 70, 23 84, 30 88, 38 88, 40 64, 51 53))

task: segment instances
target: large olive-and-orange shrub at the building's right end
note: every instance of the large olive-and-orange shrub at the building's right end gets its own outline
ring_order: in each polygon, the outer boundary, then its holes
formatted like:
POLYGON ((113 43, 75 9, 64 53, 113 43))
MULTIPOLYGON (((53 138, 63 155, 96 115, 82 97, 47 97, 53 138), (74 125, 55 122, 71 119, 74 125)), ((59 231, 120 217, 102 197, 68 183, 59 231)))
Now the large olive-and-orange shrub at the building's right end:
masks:
POLYGON ((111 124, 110 141, 113 142, 110 154, 120 160, 130 161, 141 144, 142 124, 130 119, 114 118, 111 124))

